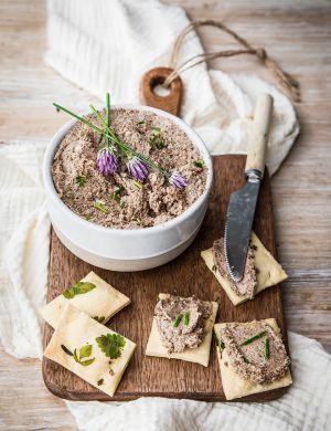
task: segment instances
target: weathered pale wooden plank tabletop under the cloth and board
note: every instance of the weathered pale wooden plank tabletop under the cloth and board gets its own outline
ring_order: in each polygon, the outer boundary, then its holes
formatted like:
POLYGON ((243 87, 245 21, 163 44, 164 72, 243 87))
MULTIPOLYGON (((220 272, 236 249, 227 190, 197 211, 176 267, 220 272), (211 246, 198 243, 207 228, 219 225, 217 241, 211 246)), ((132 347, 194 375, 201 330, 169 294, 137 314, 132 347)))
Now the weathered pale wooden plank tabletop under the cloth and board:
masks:
MULTIPOLYGON (((297 105, 301 134, 273 179, 278 255, 289 274, 284 283, 288 328, 331 350, 331 2, 321 0, 168 0, 191 18, 223 20, 264 46, 301 84, 297 105)), ((94 101, 43 62, 45 3, 0 2, 0 138, 49 139, 62 123, 54 98, 94 101)), ((204 29, 210 50, 234 45, 217 30, 204 29)), ((216 61, 214 67, 259 73, 248 56, 216 61)), ((41 362, 17 360, 0 347, 0 429, 76 430, 61 399, 44 388, 41 362)))

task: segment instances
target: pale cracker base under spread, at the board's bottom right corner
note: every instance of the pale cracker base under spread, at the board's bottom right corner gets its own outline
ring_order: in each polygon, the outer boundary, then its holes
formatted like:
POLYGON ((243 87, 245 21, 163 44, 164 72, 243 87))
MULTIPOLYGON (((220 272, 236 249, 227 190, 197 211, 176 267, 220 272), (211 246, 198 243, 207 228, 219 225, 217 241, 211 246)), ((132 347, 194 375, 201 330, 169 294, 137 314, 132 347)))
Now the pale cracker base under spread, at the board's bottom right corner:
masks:
MULTIPOLYGON (((277 334, 279 337, 281 336, 275 318, 267 318, 263 322, 268 324, 275 330, 275 334, 277 334)), ((250 324, 252 323, 245 323, 242 325, 250 325, 250 324)), ((225 325, 226 325, 225 323, 222 323, 222 324, 216 324, 214 326, 214 332, 217 341, 220 341, 220 330, 225 325)), ((292 383, 292 378, 289 369, 287 370, 284 377, 281 377, 278 380, 271 381, 270 383, 254 383, 249 380, 243 379, 239 375, 236 374, 235 369, 229 364, 229 358, 226 348, 223 349, 222 355, 220 348, 217 348, 217 359, 218 359, 218 365, 221 370, 223 391, 227 400, 234 400, 236 398, 247 397, 253 393, 260 393, 267 390, 284 388, 292 383), (225 364, 227 364, 227 366, 225 364)))

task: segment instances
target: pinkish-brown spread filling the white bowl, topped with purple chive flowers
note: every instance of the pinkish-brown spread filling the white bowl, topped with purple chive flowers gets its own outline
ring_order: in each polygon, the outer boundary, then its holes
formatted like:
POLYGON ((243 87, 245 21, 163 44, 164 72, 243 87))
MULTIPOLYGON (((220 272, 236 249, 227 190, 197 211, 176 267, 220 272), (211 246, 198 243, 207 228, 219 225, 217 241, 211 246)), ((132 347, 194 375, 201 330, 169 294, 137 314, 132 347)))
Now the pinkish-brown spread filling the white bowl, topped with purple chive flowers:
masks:
MULTIPOLYGON (((97 114, 106 118, 106 111, 97 114)), ((84 119, 105 133, 98 115, 84 119)), ((65 204, 118 229, 153 227, 191 207, 204 191, 207 168, 189 136, 148 111, 114 109, 109 118, 113 140, 82 120, 64 136, 52 174, 65 204)))

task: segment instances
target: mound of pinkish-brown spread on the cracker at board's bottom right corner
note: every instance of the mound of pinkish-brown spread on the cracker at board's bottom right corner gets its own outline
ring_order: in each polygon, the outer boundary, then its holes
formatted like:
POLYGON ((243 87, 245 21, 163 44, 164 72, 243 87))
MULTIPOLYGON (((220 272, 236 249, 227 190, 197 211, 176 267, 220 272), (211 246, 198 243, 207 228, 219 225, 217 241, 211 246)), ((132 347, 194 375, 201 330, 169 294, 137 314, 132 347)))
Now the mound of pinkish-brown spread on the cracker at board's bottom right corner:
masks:
POLYGON ((255 383, 277 380, 289 367, 281 338, 264 322, 227 324, 221 329, 220 348, 226 348, 235 371, 255 383))

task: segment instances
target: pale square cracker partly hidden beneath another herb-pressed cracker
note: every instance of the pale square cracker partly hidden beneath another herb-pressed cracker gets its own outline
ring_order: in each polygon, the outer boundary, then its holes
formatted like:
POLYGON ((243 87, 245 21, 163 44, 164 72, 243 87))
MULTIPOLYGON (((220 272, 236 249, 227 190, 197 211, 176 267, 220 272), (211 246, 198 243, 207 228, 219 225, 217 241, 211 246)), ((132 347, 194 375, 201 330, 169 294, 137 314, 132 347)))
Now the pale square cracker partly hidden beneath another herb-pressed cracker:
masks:
POLYGON ((110 284, 106 283, 93 271, 86 277, 82 278, 81 282, 93 283, 96 287, 90 292, 76 295, 71 299, 60 294, 49 304, 40 308, 40 314, 53 328, 56 328, 62 311, 67 303, 85 312, 90 317, 104 317, 102 322, 99 320, 103 324, 106 324, 110 317, 130 303, 130 299, 126 295, 110 286, 110 284))

